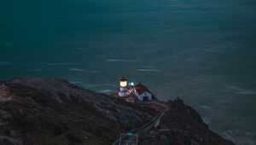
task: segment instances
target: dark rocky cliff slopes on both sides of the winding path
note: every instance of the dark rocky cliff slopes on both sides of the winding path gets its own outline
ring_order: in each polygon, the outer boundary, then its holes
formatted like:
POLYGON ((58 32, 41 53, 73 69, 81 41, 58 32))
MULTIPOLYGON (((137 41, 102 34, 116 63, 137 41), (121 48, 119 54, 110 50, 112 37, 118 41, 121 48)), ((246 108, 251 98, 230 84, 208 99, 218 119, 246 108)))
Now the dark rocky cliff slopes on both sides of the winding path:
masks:
MULTIPOLYGON (((169 110, 139 144, 232 145, 210 131, 182 100, 165 102, 169 110)), ((128 103, 62 79, 14 78, 0 83, 0 144, 111 144, 127 126, 136 129, 160 112, 151 104, 128 103)))

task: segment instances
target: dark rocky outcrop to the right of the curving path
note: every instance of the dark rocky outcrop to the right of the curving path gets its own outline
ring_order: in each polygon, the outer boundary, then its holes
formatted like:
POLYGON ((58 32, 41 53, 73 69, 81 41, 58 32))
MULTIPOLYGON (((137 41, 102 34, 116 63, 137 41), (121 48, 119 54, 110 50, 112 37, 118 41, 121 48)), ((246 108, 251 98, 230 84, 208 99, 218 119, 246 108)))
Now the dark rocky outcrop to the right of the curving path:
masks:
POLYGON ((177 97, 169 101, 170 111, 166 112, 158 128, 143 136, 141 144, 166 145, 234 145, 211 131, 201 116, 192 107, 177 97))

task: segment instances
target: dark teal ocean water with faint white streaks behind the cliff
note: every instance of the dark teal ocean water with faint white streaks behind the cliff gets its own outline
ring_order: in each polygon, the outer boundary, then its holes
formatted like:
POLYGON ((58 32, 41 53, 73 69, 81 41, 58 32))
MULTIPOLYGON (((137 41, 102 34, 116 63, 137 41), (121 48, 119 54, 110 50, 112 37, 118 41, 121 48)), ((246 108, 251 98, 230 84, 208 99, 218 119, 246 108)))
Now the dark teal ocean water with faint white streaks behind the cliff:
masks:
POLYGON ((177 96, 238 145, 256 144, 256 1, 1 0, 0 79, 66 78, 177 96))

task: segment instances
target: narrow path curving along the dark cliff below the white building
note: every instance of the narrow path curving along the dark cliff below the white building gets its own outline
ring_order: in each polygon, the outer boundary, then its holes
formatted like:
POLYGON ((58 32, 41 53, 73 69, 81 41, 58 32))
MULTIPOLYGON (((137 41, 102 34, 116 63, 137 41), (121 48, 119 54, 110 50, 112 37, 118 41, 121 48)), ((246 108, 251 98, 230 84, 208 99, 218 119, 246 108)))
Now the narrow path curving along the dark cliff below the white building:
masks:
MULTIPOLYGON (((164 114, 169 110, 169 107, 166 104, 162 104, 160 102, 143 102, 143 103, 154 103, 156 105, 160 105, 161 107, 165 107, 165 109, 163 109, 162 111, 160 111, 160 113, 158 113, 154 119, 151 119, 147 124, 137 128, 137 129, 133 129, 130 132, 133 134, 138 134, 139 136, 143 135, 144 133, 147 133, 148 131, 150 131, 153 127, 157 127, 160 124, 160 119, 162 119, 162 117, 164 116, 164 114)), ((113 142, 112 145, 118 145, 119 142, 125 138, 128 138, 128 136, 122 136, 119 139, 117 139, 115 142, 113 142)))

